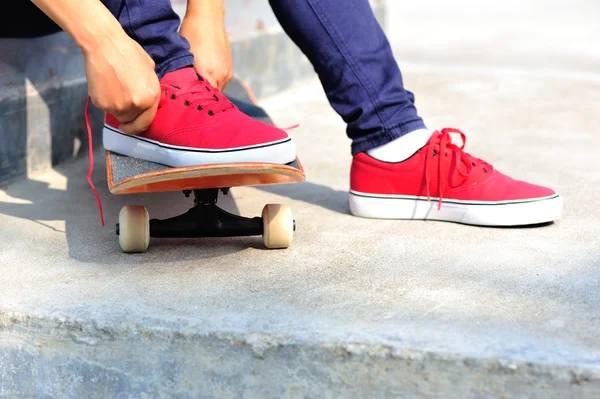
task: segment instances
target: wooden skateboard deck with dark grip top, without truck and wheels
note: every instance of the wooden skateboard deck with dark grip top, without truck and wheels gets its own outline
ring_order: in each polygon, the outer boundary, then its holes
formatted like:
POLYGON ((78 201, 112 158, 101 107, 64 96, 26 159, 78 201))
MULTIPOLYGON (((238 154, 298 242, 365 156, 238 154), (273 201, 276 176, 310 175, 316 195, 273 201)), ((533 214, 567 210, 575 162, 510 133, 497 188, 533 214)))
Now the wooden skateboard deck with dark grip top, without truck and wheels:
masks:
MULTIPOLYGON (((246 115, 274 125, 241 80, 234 78, 223 93, 246 115)), ((306 178, 298 159, 287 165, 245 162, 174 168, 110 151, 106 170, 112 194, 300 183, 306 178)))

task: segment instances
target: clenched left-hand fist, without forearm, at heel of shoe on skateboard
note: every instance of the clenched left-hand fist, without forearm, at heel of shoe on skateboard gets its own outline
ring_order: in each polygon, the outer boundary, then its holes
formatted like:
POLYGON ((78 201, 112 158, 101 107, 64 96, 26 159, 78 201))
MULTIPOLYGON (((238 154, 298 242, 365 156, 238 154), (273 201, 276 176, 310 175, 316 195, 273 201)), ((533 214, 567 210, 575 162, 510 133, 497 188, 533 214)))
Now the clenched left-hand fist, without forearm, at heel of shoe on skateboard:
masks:
POLYGON ((119 130, 138 134, 148 129, 160 100, 154 61, 126 35, 84 51, 88 93, 95 106, 114 115, 119 130))

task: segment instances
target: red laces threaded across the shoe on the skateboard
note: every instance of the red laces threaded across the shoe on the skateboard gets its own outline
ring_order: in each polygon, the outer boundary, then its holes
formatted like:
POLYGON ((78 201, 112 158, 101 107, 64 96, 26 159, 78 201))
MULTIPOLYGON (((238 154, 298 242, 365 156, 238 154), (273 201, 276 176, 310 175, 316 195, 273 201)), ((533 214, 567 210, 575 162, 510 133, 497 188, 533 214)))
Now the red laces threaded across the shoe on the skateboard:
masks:
POLYGON ((198 111, 208 111, 210 116, 213 116, 217 112, 225 112, 228 109, 234 107, 234 105, 219 92, 217 89, 212 88, 206 81, 198 75, 198 80, 194 81, 186 86, 177 88, 177 93, 171 93, 169 95, 169 88, 167 87, 161 94, 161 104, 166 98, 176 100, 177 98, 185 98, 184 105, 190 107, 194 104, 198 104, 196 109, 198 111))

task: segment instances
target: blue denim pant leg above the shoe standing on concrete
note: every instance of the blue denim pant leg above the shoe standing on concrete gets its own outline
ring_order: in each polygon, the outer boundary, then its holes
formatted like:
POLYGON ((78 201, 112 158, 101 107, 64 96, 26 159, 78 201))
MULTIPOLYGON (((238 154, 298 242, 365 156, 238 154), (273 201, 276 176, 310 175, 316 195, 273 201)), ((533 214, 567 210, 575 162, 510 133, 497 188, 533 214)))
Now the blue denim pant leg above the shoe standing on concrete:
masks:
POLYGON ((347 123, 352 153, 424 128, 368 0, 270 0, 347 123))

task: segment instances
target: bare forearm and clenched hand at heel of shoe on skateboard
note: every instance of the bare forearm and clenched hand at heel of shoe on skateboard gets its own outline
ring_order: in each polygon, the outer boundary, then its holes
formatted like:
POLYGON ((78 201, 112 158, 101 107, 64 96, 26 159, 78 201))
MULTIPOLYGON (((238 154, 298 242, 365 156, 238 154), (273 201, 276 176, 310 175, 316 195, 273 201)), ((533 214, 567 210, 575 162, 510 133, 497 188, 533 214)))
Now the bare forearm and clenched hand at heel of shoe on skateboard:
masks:
POLYGON ((120 129, 148 129, 160 100, 154 62, 100 0, 32 0, 81 48, 88 93, 94 105, 114 115, 120 129))

